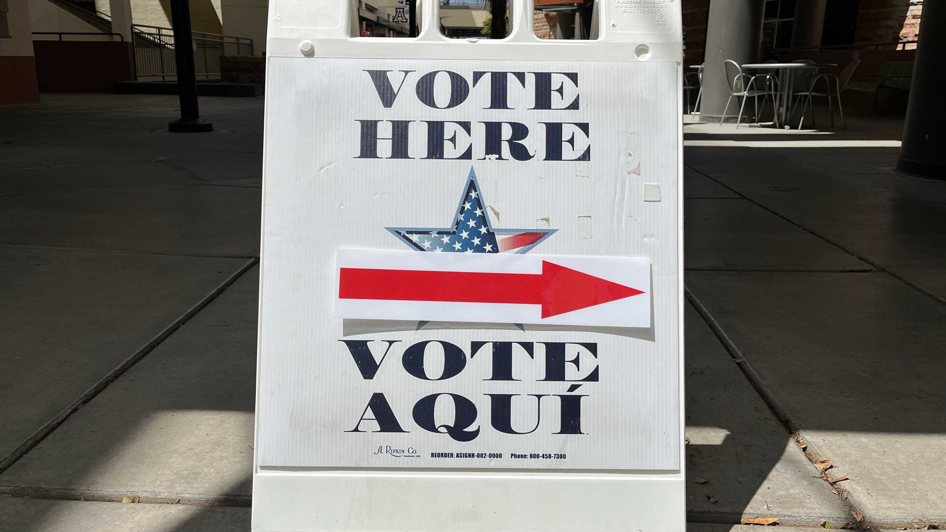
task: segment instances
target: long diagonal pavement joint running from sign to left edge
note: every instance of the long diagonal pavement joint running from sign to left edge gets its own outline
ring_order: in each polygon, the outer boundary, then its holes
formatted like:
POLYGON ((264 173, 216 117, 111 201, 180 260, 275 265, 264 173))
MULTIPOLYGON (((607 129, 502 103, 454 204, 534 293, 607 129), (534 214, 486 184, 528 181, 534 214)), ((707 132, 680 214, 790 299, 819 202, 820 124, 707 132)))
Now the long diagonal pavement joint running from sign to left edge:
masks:
POLYGON ((55 431, 68 417, 72 416, 77 410, 79 410, 79 408, 81 408, 90 400, 95 399, 102 390, 121 377, 131 368, 131 366, 137 364, 139 361, 141 361, 141 359, 145 358, 145 356, 154 350, 155 347, 161 345, 161 343, 164 342, 167 337, 170 336, 175 330, 181 328, 185 323, 187 323, 188 320, 197 315, 198 312, 209 305, 219 296, 219 294, 223 293, 227 288, 229 288, 230 285, 235 283, 236 279, 250 271, 250 269, 253 268, 258 262, 259 258, 256 257, 246 261, 242 266, 239 267, 238 270, 236 270, 233 275, 230 275, 224 279, 223 282, 221 282, 211 293, 205 295, 201 301, 199 301, 189 310, 185 311, 184 314, 179 316, 170 325, 164 328, 156 336, 151 338, 147 344, 132 353, 131 356, 125 359, 124 362, 118 364, 112 371, 102 377, 91 388, 86 390, 85 393, 79 396, 78 399, 74 400, 72 404, 65 407, 59 414, 46 421, 43 427, 26 438, 26 441, 21 443, 16 449, 14 449, 12 452, 9 452, 9 454, 3 458, 0 458, 0 474, 8 470, 10 466, 22 458, 26 452, 29 452, 34 447, 39 445, 39 443, 43 441, 46 436, 52 434, 53 431, 55 431))

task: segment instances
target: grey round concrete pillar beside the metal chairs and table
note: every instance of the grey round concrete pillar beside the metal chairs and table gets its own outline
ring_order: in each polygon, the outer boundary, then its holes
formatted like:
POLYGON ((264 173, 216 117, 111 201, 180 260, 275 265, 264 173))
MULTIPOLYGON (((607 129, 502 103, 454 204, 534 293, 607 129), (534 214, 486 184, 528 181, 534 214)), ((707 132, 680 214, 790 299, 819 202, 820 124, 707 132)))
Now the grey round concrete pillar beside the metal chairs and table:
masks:
MULTIPOLYGON (((762 42, 763 0, 712 0, 707 22, 706 54, 703 62, 703 97, 700 120, 719 120, 729 98, 723 62, 731 59, 743 64, 759 60, 762 42)), ((732 105, 728 113, 733 116, 732 105)))

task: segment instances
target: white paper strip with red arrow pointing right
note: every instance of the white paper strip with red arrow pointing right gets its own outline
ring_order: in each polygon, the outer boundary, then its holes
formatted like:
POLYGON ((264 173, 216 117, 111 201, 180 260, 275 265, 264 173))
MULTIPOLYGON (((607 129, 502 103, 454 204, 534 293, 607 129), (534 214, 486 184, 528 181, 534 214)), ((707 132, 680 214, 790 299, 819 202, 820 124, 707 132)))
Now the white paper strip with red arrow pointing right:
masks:
POLYGON ((342 250, 335 316, 650 327, 640 257, 342 250))

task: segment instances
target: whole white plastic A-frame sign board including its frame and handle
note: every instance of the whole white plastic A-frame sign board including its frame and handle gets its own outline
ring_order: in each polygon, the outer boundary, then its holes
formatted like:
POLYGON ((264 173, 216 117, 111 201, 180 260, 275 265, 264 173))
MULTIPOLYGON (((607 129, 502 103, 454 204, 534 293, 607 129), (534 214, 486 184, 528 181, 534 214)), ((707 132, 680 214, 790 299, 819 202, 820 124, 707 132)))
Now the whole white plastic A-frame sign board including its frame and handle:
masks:
POLYGON ((684 530, 680 2, 533 9, 271 0, 254 530, 684 530))

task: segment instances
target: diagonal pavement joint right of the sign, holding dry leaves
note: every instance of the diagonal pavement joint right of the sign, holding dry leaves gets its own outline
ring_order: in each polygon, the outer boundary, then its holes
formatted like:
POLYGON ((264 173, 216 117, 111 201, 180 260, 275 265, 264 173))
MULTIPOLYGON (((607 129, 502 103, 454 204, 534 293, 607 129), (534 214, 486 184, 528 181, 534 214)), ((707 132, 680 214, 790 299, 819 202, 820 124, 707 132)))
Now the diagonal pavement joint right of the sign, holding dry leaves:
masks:
MULTIPOLYGON (((829 476, 828 469, 823 469, 820 464, 823 464, 827 461, 829 464, 830 460, 825 458, 819 452, 815 450, 808 443, 808 439, 805 437, 804 433, 798 428, 797 423, 794 419, 788 414, 788 411, 785 410, 785 407, 781 405, 779 399, 776 399, 775 394, 765 385, 762 381, 762 376, 756 371, 755 367, 745 359, 743 352, 740 351, 739 347, 729 338, 729 335, 723 330, 719 322, 710 314, 710 310, 703 305, 702 302, 690 291, 689 288, 684 287, 684 293, 686 298, 693 306, 693 309, 703 318, 703 321, 710 327, 712 333, 716 336, 716 339, 719 343, 726 349, 729 356, 732 358, 732 362, 736 364, 740 371, 743 372, 745 379, 749 381, 749 384, 755 389, 756 393, 759 394, 759 397, 762 399, 762 402, 765 403, 765 406, 769 408, 772 414, 779 420, 782 428, 785 429, 785 432, 788 433, 792 439, 798 445, 798 449, 805 455, 805 458, 811 462, 812 466, 815 468, 817 475, 815 478, 820 478, 831 485, 832 491, 841 499, 841 502, 844 505, 848 506, 850 511, 850 522, 845 523, 844 527, 854 527, 863 530, 869 530, 865 523, 864 513, 859 509, 856 502, 850 495, 850 492, 841 486, 835 479, 829 476), (834 480, 834 482, 831 482, 834 480)), ((780 520, 781 523, 781 520, 780 520)), ((784 524, 784 523, 783 523, 784 524)), ((820 524, 820 523, 817 523, 820 524)), ((840 523, 834 523, 838 525, 840 523)))

